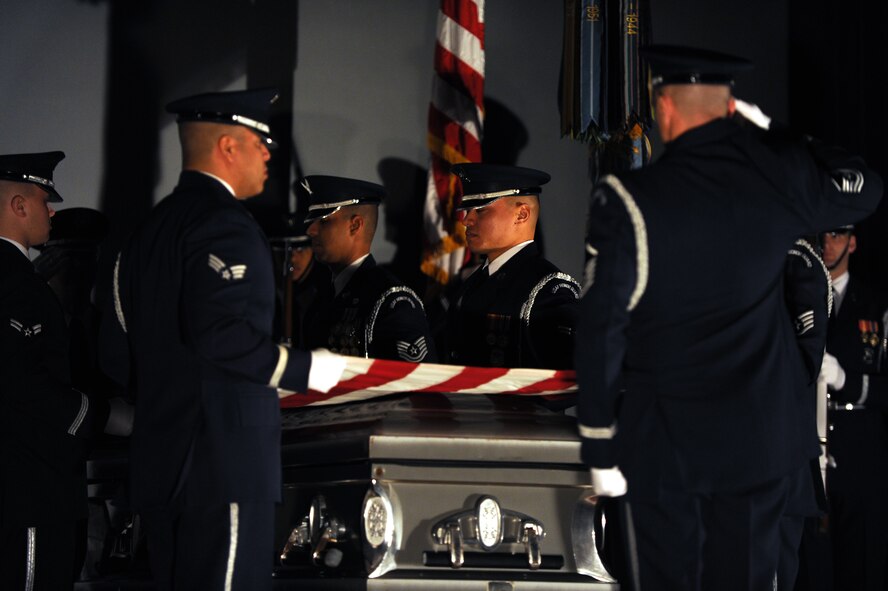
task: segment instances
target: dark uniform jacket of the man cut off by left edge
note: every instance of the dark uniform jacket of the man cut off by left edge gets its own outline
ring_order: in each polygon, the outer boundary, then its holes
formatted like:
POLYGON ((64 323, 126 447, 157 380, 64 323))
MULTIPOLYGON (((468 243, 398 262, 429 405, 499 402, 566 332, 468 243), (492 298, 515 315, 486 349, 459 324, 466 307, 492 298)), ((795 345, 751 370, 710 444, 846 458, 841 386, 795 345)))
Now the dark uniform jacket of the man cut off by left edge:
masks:
POLYGON ((71 388, 62 307, 14 245, 0 240, 0 525, 86 515, 84 438, 108 407, 71 388))

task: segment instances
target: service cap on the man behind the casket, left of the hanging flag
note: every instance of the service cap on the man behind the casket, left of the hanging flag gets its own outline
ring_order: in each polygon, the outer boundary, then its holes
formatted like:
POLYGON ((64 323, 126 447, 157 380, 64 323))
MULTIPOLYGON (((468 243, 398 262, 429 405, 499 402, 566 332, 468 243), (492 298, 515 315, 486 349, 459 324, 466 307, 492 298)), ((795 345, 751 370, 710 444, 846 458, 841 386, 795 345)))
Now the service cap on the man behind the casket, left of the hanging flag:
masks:
POLYGON ((385 187, 338 176, 310 175, 294 183, 300 199, 308 200, 305 223, 333 215, 350 205, 379 205, 385 198, 385 187))

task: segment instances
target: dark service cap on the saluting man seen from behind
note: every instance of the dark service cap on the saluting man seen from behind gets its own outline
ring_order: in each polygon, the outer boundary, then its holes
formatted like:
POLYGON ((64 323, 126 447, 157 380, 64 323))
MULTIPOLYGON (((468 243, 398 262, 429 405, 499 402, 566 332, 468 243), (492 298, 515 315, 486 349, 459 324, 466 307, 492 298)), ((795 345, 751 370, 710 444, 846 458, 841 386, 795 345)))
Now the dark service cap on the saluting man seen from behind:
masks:
POLYGON ((666 84, 734 85, 739 72, 752 69, 752 62, 709 49, 681 45, 648 45, 641 56, 651 67, 651 86, 666 84))

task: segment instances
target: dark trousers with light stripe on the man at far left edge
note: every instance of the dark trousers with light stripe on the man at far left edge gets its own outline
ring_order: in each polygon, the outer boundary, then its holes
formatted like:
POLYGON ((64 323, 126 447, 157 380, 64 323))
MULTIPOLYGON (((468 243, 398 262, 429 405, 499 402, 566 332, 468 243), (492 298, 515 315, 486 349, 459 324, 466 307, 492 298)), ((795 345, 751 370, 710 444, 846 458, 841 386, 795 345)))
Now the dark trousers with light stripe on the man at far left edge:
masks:
POLYGON ((72 520, 0 528, 0 589, 72 589, 79 571, 76 547, 77 527, 72 520))

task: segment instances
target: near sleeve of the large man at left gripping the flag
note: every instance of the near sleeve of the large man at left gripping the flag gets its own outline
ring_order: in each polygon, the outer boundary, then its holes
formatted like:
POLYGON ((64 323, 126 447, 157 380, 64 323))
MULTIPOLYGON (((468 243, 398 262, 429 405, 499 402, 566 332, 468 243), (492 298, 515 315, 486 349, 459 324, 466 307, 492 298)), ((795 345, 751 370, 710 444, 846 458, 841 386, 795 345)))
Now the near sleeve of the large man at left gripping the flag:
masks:
POLYGON ((247 218, 226 210, 184 241, 182 322, 186 341, 206 362, 256 383, 304 392, 311 356, 275 344, 253 307, 273 306, 268 247, 247 218), (263 298, 266 294, 268 297, 263 298))

